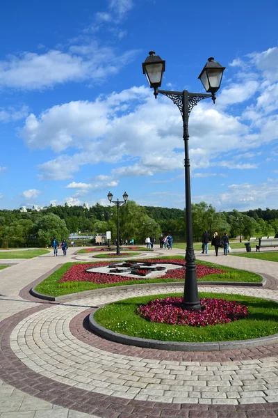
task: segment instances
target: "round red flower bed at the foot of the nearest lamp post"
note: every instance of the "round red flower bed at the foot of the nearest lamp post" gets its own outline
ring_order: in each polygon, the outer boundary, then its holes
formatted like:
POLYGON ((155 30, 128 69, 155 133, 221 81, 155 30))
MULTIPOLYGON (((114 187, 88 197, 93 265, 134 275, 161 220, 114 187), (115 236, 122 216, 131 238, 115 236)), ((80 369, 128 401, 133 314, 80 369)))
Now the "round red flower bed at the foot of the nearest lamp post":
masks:
POLYGON ((206 327, 206 325, 226 324, 233 320, 246 318, 247 307, 238 302, 215 298, 202 298, 199 311, 182 309, 182 297, 165 297, 165 299, 151 300, 136 309, 139 316, 150 322, 166 323, 170 325, 190 325, 192 327, 206 327))

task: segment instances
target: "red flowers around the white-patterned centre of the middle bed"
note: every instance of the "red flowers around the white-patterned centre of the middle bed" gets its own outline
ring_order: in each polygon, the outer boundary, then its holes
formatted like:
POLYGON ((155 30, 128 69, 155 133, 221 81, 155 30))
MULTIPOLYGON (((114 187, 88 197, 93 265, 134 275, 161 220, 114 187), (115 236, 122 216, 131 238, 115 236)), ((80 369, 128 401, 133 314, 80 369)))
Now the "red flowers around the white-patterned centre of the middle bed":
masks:
MULTIPOLYGON (((137 260, 133 261, 133 263, 143 263, 149 260, 137 260)), ((168 260, 161 260, 157 258, 156 260, 152 260, 153 263, 163 263, 163 264, 178 264, 181 265, 181 268, 174 269, 168 271, 164 274, 161 278, 163 279, 175 279, 177 281, 182 281, 185 277, 185 261, 184 260, 175 260, 175 259, 168 259, 168 260), (183 267, 183 268, 182 268, 183 267)), ((144 277, 126 277, 126 276, 116 276, 115 274, 106 274, 106 273, 98 273, 98 272, 87 272, 87 268, 92 267, 101 267, 103 265, 110 265, 111 262, 109 261, 102 261, 99 263, 92 264, 75 264, 67 270, 63 277, 61 277, 60 282, 64 281, 91 281, 95 284, 109 284, 109 283, 117 283, 120 281, 133 281, 133 280, 144 280, 144 277)), ((208 267, 207 265, 197 264, 196 266, 197 271, 197 279, 199 277, 206 276, 207 274, 215 274, 215 273, 224 273, 224 270, 216 269, 208 267)))

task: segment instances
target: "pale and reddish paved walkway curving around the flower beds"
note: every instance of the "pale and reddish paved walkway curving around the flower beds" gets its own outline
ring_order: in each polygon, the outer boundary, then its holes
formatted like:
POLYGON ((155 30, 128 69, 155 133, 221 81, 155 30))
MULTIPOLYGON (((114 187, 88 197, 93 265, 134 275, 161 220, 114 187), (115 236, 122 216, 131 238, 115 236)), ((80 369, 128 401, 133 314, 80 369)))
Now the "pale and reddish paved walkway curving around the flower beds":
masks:
MULTIPOLYGON (((182 288, 106 288, 63 304, 19 296, 22 288, 74 259, 45 256, 0 270, 1 418, 255 418, 278 416, 278 347, 212 353, 168 352, 123 346, 86 329, 91 307, 182 288)), ((163 251, 183 254, 183 250, 163 251)), ((197 258, 267 272, 277 263, 233 256, 197 258)), ((153 254, 153 256, 158 256, 153 254)), ((87 256, 87 255, 86 255, 87 256)), ((151 256, 151 254, 148 254, 151 256)), ((219 288, 278 300, 278 290, 219 288)))

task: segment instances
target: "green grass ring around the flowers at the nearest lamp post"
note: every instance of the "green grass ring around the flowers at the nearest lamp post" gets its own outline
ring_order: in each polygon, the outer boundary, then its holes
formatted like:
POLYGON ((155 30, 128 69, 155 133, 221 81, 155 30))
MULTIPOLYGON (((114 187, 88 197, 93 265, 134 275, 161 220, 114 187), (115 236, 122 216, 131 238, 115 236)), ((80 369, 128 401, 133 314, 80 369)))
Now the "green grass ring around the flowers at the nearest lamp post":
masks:
POLYGON ((136 314, 140 304, 146 304, 157 297, 181 296, 152 295, 133 297, 106 305, 95 313, 99 325, 120 334, 138 336, 140 338, 157 339, 161 341, 231 341, 253 339, 278 332, 278 304, 270 300, 247 297, 242 295, 227 295, 222 293, 199 293, 200 297, 216 297, 218 299, 235 300, 248 307, 249 316, 221 325, 206 327, 190 327, 152 323, 136 314))

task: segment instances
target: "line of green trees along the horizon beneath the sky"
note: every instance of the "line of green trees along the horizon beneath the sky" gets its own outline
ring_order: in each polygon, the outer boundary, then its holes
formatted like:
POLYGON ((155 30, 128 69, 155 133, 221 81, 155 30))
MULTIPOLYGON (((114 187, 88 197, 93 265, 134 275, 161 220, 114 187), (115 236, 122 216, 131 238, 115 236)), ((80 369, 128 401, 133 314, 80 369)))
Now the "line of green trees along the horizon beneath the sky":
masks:
MULTIPOLYGON (((219 212, 206 202, 195 203, 193 210, 193 238, 199 241, 204 230, 210 235, 227 232, 230 238, 241 233, 243 238, 275 235, 278 231, 278 210, 266 208, 247 212, 219 212)), ((117 208, 101 206, 57 206, 40 212, 27 210, 0 210, 0 246, 49 247, 54 236, 61 240, 70 233, 103 234, 111 231, 112 240, 117 236, 117 208)), ((120 207, 120 237, 133 238, 137 244, 145 242, 147 235, 156 240, 161 234, 171 233, 174 242, 186 240, 185 210, 138 206, 128 201, 120 207)))

